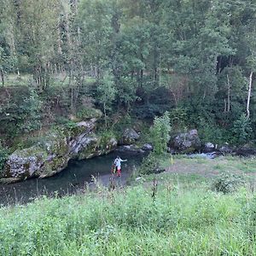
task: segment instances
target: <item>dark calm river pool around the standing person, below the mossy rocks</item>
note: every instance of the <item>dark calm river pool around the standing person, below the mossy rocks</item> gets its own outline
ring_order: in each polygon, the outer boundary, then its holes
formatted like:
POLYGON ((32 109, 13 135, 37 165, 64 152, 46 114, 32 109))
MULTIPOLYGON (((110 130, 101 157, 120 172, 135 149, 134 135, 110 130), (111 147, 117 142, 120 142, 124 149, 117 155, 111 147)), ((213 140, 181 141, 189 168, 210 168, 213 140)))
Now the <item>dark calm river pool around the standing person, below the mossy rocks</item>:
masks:
POLYGON ((139 166, 144 154, 131 152, 113 152, 90 160, 70 161, 67 168, 48 178, 31 178, 20 183, 0 184, 0 205, 23 204, 33 201, 42 195, 73 195, 84 189, 86 183, 91 183, 92 176, 103 185, 109 184, 111 166, 119 155, 127 162, 122 163, 122 177, 118 183, 125 185, 133 168, 139 166))

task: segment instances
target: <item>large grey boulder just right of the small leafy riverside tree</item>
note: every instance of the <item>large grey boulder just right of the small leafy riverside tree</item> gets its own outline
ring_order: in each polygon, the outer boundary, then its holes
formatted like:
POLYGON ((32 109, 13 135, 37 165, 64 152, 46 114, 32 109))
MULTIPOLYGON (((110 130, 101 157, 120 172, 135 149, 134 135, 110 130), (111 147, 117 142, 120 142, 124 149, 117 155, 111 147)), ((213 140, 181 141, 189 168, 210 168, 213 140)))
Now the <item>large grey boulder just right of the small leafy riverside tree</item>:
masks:
POLYGON ((196 130, 180 133, 170 142, 177 153, 189 154, 201 149, 201 141, 196 130))

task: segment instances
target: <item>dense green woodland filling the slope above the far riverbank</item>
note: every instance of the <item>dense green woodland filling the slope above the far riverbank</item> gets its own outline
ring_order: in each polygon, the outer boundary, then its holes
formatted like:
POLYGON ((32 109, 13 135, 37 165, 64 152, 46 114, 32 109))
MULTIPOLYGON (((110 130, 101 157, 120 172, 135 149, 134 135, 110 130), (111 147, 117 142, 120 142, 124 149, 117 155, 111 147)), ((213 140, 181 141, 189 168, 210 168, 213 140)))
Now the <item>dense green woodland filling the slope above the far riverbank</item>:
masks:
POLYGON ((0 0, 3 147, 101 108, 102 127, 169 111, 205 142, 256 136, 253 0, 0 0))

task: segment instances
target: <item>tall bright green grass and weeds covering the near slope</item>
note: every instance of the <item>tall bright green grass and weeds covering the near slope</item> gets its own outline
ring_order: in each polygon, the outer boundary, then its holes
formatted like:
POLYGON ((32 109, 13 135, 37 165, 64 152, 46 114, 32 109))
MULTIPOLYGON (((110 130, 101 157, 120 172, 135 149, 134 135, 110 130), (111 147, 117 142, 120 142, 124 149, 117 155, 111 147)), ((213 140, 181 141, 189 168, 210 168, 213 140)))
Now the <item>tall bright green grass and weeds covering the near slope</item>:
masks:
POLYGON ((153 200, 153 178, 1 208, 0 255, 256 255, 251 189, 162 173, 153 200))

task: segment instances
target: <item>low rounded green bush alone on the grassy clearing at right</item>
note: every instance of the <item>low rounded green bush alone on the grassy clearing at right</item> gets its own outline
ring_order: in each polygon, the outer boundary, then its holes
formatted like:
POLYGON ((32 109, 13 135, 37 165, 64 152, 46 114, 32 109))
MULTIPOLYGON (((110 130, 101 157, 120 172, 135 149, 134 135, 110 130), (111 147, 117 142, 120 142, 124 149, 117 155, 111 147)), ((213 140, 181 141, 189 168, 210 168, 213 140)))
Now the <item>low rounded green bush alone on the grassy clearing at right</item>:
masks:
POLYGON ((242 177, 226 172, 222 174, 218 179, 212 184, 212 189, 217 192, 223 192, 224 194, 235 192, 239 186, 244 184, 245 181, 242 177))

